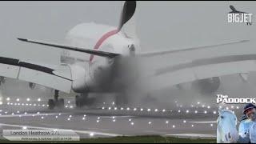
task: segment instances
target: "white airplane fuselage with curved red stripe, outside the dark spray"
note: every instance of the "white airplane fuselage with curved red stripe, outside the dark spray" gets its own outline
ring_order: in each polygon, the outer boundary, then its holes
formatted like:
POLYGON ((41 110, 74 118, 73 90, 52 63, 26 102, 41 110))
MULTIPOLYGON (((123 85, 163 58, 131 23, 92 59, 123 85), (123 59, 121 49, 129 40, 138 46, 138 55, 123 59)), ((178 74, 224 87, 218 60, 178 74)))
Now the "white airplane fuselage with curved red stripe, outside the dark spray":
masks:
MULTIPOLYGON (((66 41, 70 46, 121 54, 122 57, 129 56, 130 46, 135 45, 132 39, 117 28, 94 22, 74 26, 66 35, 66 41)), ((138 53, 138 50, 135 49, 133 53, 138 53)), ((61 54, 61 62, 70 64, 75 92, 98 90, 96 79, 98 75, 106 73, 104 70, 111 66, 112 61, 109 58, 71 50, 64 50, 61 54)))

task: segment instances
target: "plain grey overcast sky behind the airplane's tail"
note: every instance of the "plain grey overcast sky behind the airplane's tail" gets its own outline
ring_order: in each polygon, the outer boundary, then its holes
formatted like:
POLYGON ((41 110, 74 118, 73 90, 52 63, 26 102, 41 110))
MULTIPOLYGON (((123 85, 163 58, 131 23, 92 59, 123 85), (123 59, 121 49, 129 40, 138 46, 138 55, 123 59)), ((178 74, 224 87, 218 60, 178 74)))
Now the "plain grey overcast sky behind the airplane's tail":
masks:
MULTIPOLYGON (((136 21, 142 50, 202 46, 254 39, 254 24, 227 23, 229 5, 256 14, 256 2, 138 2, 136 21)), ((22 43, 17 37, 64 42, 82 22, 117 26, 122 2, 0 2, 1 55, 58 63, 59 50, 22 43)))

